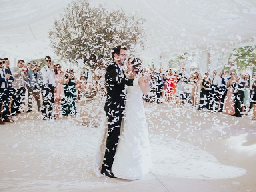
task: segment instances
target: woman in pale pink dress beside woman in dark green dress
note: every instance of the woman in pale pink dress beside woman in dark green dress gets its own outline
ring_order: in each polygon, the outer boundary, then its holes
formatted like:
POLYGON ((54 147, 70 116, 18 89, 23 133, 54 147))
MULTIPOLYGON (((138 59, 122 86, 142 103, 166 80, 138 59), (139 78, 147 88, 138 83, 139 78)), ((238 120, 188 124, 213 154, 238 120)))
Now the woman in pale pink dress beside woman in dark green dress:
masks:
POLYGON ((55 79, 55 90, 54 90, 54 109, 55 109, 55 117, 59 117, 61 100, 64 96, 64 88, 63 84, 65 83, 65 74, 61 70, 61 66, 59 64, 56 65, 54 69, 54 79, 55 79))

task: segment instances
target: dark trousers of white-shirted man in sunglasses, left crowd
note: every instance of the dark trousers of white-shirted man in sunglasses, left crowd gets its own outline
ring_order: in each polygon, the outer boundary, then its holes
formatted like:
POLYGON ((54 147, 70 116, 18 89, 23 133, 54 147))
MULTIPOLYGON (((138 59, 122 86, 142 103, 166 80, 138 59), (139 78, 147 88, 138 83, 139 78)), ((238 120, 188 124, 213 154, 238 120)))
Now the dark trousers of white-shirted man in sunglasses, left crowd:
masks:
POLYGON ((54 105, 54 85, 44 84, 42 87, 43 104, 42 104, 42 115, 47 116, 46 110, 48 108, 48 116, 53 116, 53 105, 54 105))

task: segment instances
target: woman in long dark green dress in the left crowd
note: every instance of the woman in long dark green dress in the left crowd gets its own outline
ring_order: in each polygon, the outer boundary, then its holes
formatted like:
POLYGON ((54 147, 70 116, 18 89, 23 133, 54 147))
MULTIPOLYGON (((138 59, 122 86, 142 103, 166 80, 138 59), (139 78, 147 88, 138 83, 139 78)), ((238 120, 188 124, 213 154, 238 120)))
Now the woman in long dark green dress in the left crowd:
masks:
POLYGON ((76 111, 76 78, 74 71, 68 68, 65 75, 64 93, 65 97, 62 99, 62 115, 73 116, 76 111))

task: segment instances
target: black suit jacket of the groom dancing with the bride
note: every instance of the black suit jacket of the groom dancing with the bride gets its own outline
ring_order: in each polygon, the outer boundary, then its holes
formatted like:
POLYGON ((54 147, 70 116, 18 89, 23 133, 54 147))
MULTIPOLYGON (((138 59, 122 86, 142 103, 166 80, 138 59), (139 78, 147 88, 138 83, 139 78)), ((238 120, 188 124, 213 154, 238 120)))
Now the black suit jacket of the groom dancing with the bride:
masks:
POLYGON ((124 86, 133 86, 133 79, 127 79, 121 75, 121 70, 118 64, 111 63, 105 74, 106 86, 107 86, 107 99, 104 110, 106 112, 112 112, 114 116, 122 116, 125 104, 125 90, 124 86), (118 112, 117 112, 118 111, 118 112))

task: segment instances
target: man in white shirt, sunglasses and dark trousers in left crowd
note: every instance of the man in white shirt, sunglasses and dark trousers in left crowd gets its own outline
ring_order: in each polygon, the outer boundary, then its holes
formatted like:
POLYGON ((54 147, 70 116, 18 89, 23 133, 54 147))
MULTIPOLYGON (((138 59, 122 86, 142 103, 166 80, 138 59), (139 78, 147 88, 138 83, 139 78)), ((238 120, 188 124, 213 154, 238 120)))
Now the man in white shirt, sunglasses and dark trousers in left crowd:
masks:
POLYGON ((43 78, 42 94, 43 94, 43 104, 42 104, 42 115, 43 120, 54 119, 53 116, 53 105, 54 105, 54 64, 50 56, 45 57, 46 65, 40 70, 43 78), (48 108, 48 116, 46 110, 48 108))

